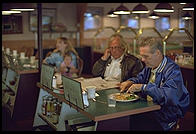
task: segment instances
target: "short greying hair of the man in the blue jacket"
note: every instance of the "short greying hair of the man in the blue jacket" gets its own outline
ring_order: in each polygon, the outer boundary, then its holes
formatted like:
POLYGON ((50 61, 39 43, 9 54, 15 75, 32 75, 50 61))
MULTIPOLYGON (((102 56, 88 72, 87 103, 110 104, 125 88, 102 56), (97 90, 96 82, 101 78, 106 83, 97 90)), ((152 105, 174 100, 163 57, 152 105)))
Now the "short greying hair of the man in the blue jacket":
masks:
POLYGON ((147 37, 142 40, 139 46, 140 47, 149 46, 151 53, 154 53, 156 50, 159 50, 163 54, 163 44, 160 39, 157 40, 153 37, 147 37))

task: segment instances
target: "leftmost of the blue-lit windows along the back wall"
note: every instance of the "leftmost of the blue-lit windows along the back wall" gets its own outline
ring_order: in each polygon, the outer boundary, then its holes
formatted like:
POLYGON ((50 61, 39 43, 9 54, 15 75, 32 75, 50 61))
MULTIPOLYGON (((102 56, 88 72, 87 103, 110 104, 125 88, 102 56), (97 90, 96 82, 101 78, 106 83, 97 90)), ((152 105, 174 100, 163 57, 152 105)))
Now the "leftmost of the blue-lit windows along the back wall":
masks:
POLYGON ((84 30, 97 30, 103 26, 103 8, 87 7, 84 13, 84 30))

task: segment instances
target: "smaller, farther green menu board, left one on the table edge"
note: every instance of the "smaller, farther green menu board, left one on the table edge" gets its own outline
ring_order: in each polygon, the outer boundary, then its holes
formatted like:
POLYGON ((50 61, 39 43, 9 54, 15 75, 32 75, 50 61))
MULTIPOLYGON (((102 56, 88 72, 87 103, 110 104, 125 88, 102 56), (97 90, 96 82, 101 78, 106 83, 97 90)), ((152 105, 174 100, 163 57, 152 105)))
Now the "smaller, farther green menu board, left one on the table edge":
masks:
POLYGON ((42 64, 41 68, 41 80, 40 83, 50 89, 52 89, 52 80, 54 75, 54 67, 48 64, 42 64))

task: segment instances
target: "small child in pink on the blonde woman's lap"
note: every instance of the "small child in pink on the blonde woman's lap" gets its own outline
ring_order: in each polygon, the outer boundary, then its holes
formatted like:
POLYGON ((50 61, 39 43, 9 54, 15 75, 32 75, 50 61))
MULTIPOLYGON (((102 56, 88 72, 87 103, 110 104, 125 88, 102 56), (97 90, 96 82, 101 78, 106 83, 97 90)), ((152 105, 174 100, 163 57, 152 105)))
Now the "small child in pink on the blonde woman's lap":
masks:
POLYGON ((66 53, 64 55, 64 61, 60 65, 60 72, 68 77, 77 77, 77 69, 72 64, 71 53, 66 53))

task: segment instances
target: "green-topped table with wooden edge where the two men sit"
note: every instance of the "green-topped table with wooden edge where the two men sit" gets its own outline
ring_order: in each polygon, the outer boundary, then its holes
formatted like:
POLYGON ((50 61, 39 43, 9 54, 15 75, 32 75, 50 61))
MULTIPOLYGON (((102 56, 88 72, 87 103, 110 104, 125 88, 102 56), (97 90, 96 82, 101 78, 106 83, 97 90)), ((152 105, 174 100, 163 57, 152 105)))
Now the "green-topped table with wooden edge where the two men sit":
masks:
POLYGON ((90 100, 89 107, 85 109, 78 108, 76 105, 70 104, 69 101, 64 99, 64 95, 56 94, 51 89, 37 83, 37 86, 40 87, 42 90, 48 92, 49 94, 53 95, 54 97, 58 98, 63 102, 61 114, 59 117, 59 124, 57 125, 56 130, 66 130, 64 125, 64 121, 71 118, 76 117, 87 117, 90 120, 96 122, 95 129, 96 131, 105 130, 105 129, 112 129, 112 130, 129 130, 129 116, 135 115, 144 112, 150 112, 159 110, 160 106, 153 103, 147 102, 143 99, 137 100, 135 102, 129 103, 121 103, 117 102, 116 107, 108 107, 107 106, 107 95, 111 93, 119 92, 118 89, 106 89, 101 91, 96 91, 99 96, 96 97, 96 102, 90 100), (69 106, 70 104, 70 106, 69 106), (122 128, 122 125, 127 124, 122 128), (127 123, 125 123, 127 122, 127 123), (103 125, 104 124, 104 125, 103 125), (107 127, 108 124, 115 124, 113 128, 107 127))

